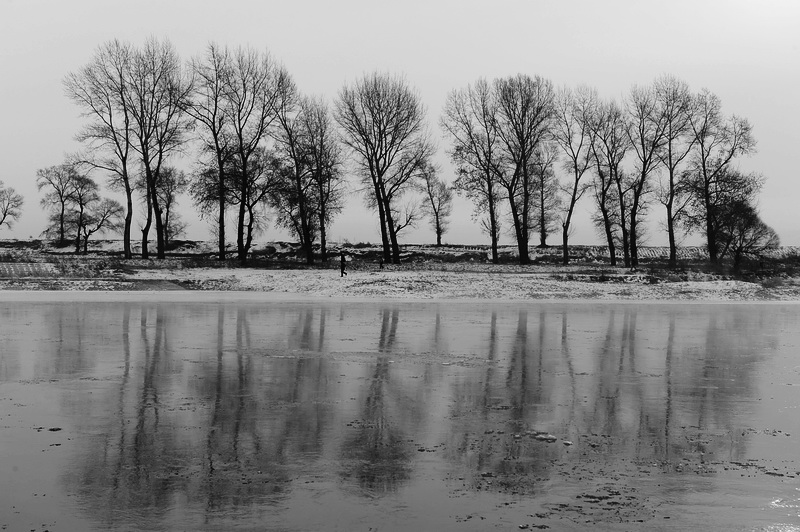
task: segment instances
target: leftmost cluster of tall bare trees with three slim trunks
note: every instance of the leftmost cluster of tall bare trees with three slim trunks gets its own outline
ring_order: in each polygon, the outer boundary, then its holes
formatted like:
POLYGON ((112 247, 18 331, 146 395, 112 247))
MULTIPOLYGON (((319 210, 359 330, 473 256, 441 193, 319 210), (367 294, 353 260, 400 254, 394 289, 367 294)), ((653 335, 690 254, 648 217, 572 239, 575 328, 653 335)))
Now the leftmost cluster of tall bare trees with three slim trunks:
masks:
POLYGON ((146 221, 142 255, 155 223, 157 255, 164 257, 162 174, 170 156, 183 148, 191 124, 183 111, 192 85, 183 75, 168 41, 148 40, 140 49, 114 40, 98 48, 92 60, 64 79, 67 95, 88 123, 77 139, 87 151, 77 162, 110 175, 110 185, 125 194, 123 245, 132 256, 131 226, 137 178, 144 184, 146 221))

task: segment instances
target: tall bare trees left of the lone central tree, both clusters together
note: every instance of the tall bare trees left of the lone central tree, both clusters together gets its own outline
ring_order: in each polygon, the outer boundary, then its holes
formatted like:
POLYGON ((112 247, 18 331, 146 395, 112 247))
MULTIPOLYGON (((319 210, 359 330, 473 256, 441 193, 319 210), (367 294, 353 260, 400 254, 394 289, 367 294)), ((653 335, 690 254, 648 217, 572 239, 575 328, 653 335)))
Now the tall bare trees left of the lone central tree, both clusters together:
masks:
POLYGON ((126 257, 137 190, 146 216, 142 255, 148 256, 154 227, 157 257, 164 257, 165 208, 184 184, 173 179, 168 161, 185 154, 192 140, 199 141, 200 157, 185 185, 203 215, 216 221, 220 259, 227 211, 238 211, 243 262, 267 205, 300 238, 309 263, 317 235, 324 257, 325 227, 342 207, 341 149, 325 103, 301 95, 268 53, 211 44, 184 65, 168 41, 136 48, 114 40, 64 85, 88 122, 78 135, 86 150, 77 166, 105 171, 111 187, 125 194, 126 257))

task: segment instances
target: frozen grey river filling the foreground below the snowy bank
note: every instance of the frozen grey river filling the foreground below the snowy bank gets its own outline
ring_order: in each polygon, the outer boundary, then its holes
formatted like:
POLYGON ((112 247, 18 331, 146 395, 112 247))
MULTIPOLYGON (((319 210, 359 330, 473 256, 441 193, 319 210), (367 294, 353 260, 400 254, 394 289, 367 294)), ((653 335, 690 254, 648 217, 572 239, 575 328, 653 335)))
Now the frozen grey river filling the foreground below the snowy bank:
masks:
POLYGON ((4 530, 800 530, 800 305, 54 297, 4 530))

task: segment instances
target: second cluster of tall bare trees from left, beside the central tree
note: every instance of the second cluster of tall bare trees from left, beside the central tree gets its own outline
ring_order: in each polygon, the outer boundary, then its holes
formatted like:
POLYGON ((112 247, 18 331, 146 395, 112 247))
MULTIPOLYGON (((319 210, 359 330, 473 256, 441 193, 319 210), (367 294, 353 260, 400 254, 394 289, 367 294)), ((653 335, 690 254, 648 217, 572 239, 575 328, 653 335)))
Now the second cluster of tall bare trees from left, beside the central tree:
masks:
POLYGON ((186 111, 201 130, 205 168, 192 187, 205 214, 215 212, 225 255, 226 205, 238 205, 237 252, 244 261, 272 205, 277 222, 299 240, 306 262, 342 208, 342 156, 330 113, 300 94, 267 53, 214 44, 191 63, 195 90, 186 111))

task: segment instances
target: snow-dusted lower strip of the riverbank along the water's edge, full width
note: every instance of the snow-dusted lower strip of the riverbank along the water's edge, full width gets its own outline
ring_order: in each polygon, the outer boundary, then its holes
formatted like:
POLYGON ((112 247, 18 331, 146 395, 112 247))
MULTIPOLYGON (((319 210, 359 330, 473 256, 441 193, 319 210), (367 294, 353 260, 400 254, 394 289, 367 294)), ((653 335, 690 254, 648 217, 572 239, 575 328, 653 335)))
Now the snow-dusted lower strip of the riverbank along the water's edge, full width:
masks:
MULTIPOLYGON (((315 298, 485 300, 800 301, 800 284, 732 279, 660 281, 619 273, 164 268, 100 278, 16 278, 2 290, 242 291, 315 298)), ((176 294, 177 295, 177 294, 176 294)), ((0 298, 2 298, 0 293, 0 298)))

